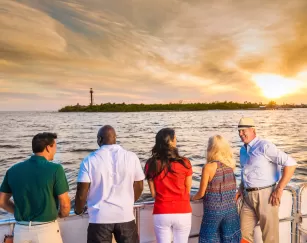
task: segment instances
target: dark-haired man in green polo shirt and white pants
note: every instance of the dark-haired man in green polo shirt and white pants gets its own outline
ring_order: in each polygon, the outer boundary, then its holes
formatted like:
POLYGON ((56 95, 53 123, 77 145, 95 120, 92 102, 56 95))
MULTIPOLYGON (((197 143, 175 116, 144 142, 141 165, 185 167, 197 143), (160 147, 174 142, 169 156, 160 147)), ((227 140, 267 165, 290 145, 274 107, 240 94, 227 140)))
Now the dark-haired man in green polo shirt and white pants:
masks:
POLYGON ((56 153, 56 138, 55 133, 35 135, 34 155, 5 174, 0 207, 13 213, 17 221, 14 243, 62 243, 56 219, 69 215, 70 198, 63 167, 49 162, 56 153))

